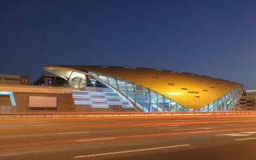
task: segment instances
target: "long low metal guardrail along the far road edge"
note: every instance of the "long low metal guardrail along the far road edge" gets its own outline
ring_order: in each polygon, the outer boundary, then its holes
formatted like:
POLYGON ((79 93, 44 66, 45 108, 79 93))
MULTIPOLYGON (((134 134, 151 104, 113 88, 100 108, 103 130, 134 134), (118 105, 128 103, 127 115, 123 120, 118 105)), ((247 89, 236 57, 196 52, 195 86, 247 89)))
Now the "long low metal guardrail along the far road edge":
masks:
POLYGON ((33 112, 0 113, 0 118, 108 118, 108 117, 156 117, 156 116, 250 116, 256 112, 33 112))

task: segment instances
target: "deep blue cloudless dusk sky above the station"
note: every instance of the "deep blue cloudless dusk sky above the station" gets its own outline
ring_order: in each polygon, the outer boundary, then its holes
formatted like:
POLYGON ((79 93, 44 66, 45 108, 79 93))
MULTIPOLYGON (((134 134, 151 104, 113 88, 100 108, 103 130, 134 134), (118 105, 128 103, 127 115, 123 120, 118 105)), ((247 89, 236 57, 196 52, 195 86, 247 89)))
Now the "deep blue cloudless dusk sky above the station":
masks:
POLYGON ((0 74, 113 65, 256 89, 256 1, 0 1, 0 74))

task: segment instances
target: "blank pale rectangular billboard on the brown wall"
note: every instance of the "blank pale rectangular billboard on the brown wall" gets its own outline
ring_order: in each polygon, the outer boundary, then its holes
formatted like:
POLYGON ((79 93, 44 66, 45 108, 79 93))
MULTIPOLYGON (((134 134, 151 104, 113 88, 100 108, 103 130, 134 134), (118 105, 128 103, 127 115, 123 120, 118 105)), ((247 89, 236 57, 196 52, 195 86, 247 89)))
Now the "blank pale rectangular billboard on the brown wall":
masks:
POLYGON ((57 97, 30 96, 29 107, 31 108, 57 108, 57 97))

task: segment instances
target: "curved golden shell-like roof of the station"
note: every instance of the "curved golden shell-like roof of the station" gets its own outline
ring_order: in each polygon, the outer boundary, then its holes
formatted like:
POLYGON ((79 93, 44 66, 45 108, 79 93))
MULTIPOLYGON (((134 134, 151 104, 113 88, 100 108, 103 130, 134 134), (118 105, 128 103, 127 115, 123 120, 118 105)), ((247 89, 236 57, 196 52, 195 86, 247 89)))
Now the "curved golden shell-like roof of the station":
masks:
POLYGON ((46 71, 65 67, 79 71, 94 71, 126 79, 156 91, 187 108, 201 108, 242 84, 205 75, 162 69, 110 66, 44 66, 46 71))

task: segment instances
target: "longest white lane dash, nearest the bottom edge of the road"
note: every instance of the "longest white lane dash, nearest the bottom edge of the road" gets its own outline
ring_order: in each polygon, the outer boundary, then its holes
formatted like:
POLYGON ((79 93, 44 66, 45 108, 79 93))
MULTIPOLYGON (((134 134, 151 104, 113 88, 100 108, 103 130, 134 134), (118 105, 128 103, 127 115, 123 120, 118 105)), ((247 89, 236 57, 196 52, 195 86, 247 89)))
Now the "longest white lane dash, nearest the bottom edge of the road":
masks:
POLYGON ((137 149, 137 150, 130 150, 130 151, 120 151, 120 152, 111 152, 111 153, 101 153, 101 154, 95 154, 95 155, 81 155, 81 156, 76 156, 75 158, 85 158, 85 157, 96 157, 96 156, 101 156, 101 155, 116 155, 116 154, 121 154, 121 153, 131 153, 131 152, 140 152, 140 151, 151 151, 151 150, 157 150, 157 149, 169 149, 169 148, 174 148, 174 147, 185 147, 189 145, 177 145, 177 146, 167 146, 167 147, 156 147, 156 148, 150 148, 150 149, 137 149))

